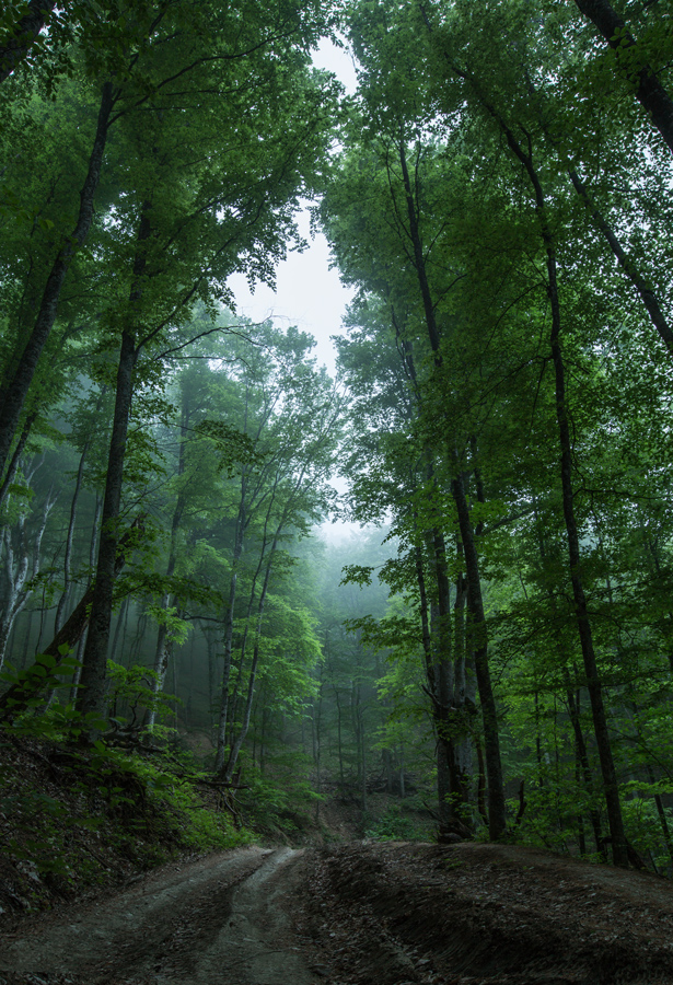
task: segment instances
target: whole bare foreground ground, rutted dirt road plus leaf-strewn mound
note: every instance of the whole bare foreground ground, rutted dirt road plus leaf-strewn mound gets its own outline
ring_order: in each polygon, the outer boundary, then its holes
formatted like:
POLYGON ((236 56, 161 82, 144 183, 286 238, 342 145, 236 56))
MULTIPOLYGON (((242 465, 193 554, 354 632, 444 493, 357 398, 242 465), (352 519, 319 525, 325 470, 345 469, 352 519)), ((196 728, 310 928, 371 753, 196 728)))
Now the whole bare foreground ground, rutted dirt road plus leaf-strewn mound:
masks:
POLYGON ((508 845, 247 847, 0 934, 0 985, 321 982, 673 983, 673 885, 508 845))

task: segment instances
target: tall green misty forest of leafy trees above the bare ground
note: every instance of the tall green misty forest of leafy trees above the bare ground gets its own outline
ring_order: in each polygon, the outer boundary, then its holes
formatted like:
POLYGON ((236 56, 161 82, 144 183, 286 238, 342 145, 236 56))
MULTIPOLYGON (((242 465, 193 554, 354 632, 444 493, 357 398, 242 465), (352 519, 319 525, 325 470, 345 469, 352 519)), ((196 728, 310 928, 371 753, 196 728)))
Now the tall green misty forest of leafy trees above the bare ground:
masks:
POLYGON ((5 7, 4 728, 671 872, 671 23, 5 7), (338 384, 227 288, 305 198, 338 384), (337 509, 368 532, 327 548, 337 509))

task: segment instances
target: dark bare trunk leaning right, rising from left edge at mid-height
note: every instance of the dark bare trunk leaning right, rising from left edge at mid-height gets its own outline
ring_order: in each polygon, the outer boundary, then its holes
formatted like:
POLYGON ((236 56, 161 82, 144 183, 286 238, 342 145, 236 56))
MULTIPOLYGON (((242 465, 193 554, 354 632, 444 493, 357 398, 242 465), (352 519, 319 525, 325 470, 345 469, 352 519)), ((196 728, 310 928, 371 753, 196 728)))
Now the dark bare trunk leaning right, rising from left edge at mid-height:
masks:
POLYGON ((66 275, 77 248, 86 239, 93 222, 94 196, 101 177, 103 152, 107 140, 107 128, 113 105, 113 85, 112 82, 105 82, 101 93, 101 107, 93 148, 89 159, 89 171, 80 193, 80 210, 77 223, 71 234, 66 237, 54 260, 43 292, 37 318, 23 352, 15 366, 10 367, 0 389, 0 475, 4 473, 31 382, 37 370, 42 350, 56 321, 66 275))

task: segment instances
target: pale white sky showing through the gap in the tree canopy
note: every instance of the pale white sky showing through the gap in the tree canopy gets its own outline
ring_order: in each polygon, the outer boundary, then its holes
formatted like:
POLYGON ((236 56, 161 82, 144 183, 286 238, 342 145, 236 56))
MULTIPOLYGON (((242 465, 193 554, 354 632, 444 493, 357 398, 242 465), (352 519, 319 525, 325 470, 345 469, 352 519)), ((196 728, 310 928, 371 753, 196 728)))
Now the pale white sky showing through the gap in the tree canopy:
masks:
MULTIPOLYGON (((346 51, 323 39, 313 61, 318 68, 333 71, 347 92, 355 91, 356 72, 346 51)), ((312 239, 308 209, 298 216, 298 225, 309 248, 303 253, 290 253, 279 265, 275 292, 258 285, 251 293, 243 274, 230 277, 229 286, 234 292, 239 314, 255 322, 272 316, 280 324, 297 325, 310 332, 317 343, 314 355, 318 363, 325 364, 334 375, 335 350, 329 336, 343 333, 341 317, 353 292, 341 285, 337 270, 329 268, 325 236, 318 233, 312 239)))

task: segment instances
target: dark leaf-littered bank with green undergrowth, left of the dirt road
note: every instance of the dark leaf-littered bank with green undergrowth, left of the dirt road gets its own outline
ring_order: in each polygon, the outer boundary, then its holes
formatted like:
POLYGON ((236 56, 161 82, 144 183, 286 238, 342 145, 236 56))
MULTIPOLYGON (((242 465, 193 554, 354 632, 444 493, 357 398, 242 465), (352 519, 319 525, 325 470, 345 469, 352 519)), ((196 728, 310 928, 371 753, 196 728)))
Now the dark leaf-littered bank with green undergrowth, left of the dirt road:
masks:
POLYGON ((253 839, 169 730, 149 750, 79 744, 92 725, 37 698, 0 722, 0 918, 253 839))

